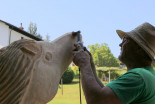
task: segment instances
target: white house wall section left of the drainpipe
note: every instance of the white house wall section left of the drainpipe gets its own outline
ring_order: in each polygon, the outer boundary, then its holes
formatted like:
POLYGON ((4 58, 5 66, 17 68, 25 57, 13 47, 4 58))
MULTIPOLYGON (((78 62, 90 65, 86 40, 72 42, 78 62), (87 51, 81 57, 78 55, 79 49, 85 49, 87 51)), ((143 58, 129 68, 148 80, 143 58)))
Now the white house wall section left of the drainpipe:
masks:
POLYGON ((0 46, 9 44, 9 26, 0 22, 0 46))

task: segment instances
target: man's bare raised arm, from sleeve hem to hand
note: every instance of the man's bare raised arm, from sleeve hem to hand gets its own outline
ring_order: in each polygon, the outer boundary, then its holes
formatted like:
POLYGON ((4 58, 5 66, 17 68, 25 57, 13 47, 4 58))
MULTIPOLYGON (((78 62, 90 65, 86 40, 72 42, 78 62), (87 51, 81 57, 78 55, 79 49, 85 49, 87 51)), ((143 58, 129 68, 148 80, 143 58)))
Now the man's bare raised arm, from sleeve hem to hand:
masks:
POLYGON ((121 104, 120 100, 109 87, 101 87, 93 74, 90 56, 80 46, 74 53, 74 63, 80 67, 82 73, 82 87, 87 104, 121 104))

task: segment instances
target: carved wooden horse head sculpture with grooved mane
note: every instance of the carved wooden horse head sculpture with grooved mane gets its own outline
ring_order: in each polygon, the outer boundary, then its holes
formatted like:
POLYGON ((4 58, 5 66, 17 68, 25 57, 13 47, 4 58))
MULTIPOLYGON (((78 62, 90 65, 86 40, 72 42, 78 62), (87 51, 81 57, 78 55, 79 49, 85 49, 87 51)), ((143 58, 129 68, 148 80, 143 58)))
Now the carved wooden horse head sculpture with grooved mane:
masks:
POLYGON ((72 61, 77 37, 67 33, 51 43, 18 40, 0 50, 0 104, 46 104, 57 93, 72 61))

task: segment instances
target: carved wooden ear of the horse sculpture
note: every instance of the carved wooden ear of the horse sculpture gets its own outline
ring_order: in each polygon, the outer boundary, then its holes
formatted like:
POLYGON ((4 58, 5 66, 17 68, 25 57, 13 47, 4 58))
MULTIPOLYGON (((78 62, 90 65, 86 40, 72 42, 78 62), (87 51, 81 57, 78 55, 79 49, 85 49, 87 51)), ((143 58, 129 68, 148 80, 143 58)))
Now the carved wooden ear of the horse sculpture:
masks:
POLYGON ((35 56, 37 53, 40 52, 40 45, 36 43, 27 44, 21 48, 21 51, 31 56, 35 56))

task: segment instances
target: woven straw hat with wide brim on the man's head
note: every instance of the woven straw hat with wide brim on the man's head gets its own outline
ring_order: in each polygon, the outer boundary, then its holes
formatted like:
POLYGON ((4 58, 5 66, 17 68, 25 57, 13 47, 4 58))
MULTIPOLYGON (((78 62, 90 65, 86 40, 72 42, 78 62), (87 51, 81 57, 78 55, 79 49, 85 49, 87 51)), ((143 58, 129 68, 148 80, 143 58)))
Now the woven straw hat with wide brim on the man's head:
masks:
POLYGON ((130 32, 116 30, 119 37, 131 37, 137 44, 142 47, 150 58, 155 60, 155 27, 149 23, 144 23, 130 32))

